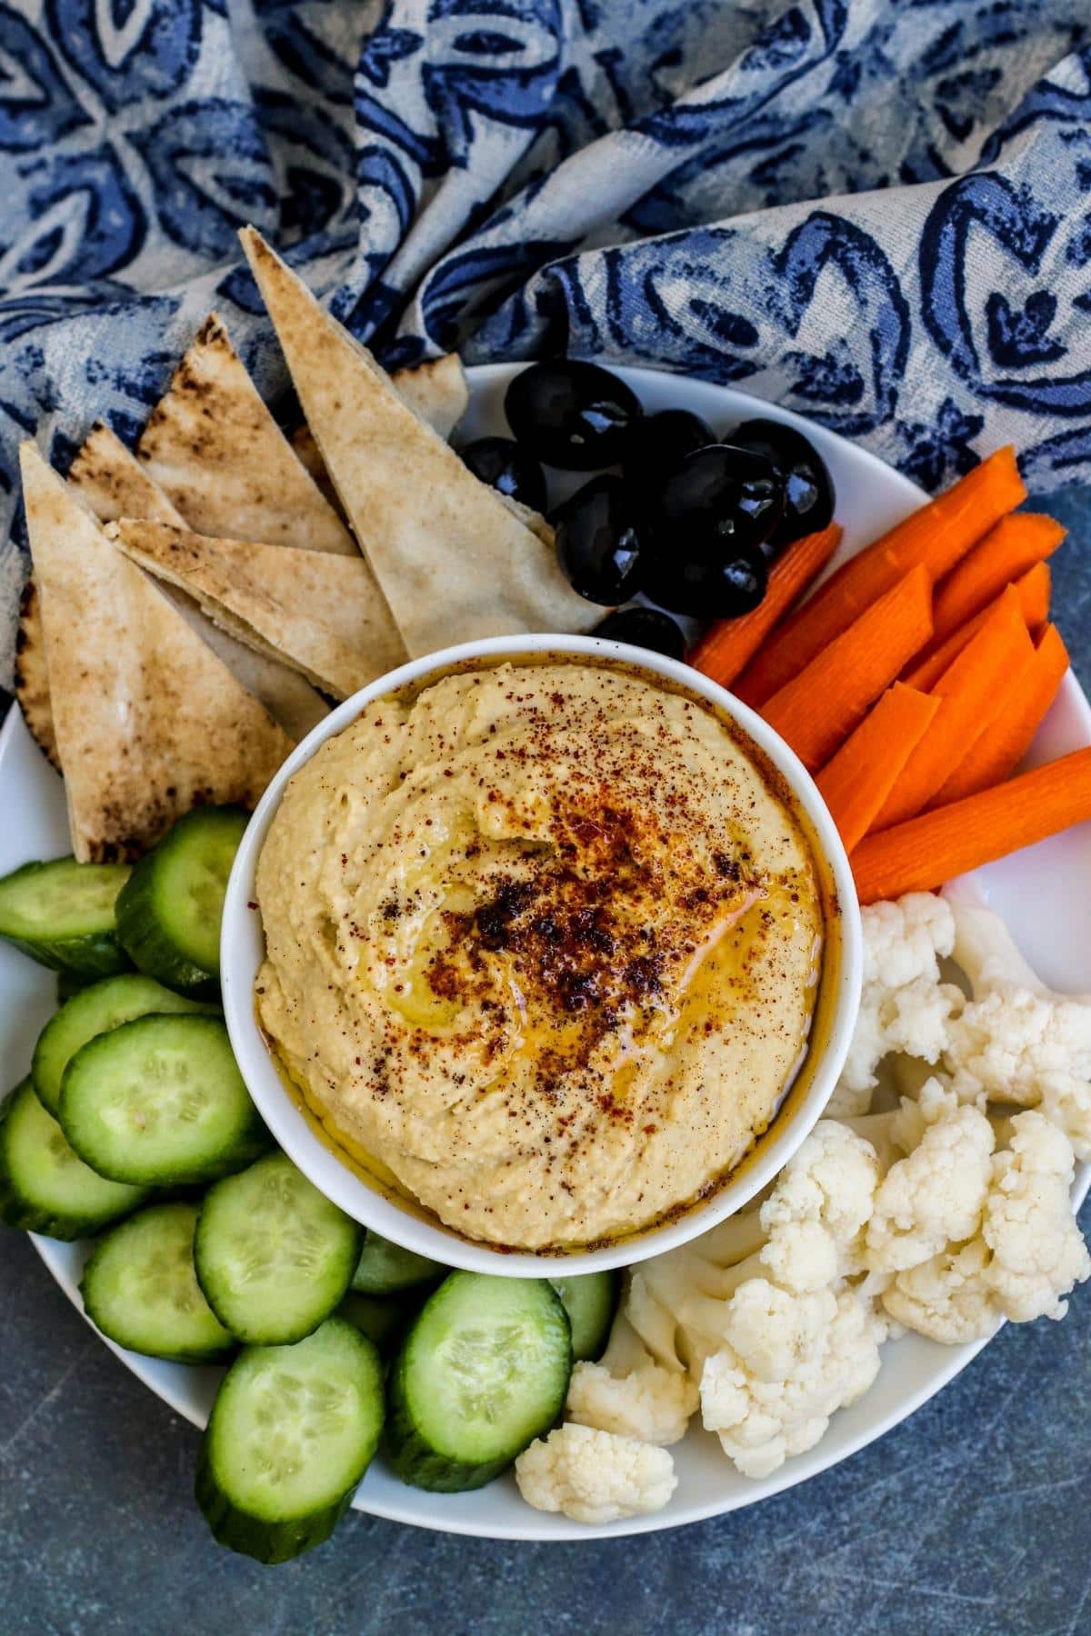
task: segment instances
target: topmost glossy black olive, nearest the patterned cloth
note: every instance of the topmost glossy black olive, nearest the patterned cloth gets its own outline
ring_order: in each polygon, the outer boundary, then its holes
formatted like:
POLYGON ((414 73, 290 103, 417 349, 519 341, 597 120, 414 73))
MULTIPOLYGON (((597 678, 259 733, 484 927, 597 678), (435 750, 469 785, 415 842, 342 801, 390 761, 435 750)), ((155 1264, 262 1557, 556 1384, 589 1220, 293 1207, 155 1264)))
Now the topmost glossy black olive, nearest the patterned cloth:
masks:
POLYGON ((538 460, 566 471, 595 471, 622 460, 641 407, 636 393, 597 363, 550 358, 515 376, 504 412, 538 460))

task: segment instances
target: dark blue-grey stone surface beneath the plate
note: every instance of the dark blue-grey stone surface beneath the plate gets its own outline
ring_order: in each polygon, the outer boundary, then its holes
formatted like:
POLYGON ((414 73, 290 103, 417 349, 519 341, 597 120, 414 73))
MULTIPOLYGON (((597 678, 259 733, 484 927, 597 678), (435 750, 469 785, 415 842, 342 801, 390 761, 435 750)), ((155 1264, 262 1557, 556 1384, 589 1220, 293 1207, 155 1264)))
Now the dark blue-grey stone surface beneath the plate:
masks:
MULTIPOLYGON (((1091 489, 1050 509, 1071 530, 1058 622, 1091 687, 1091 489)), ((276 1569, 213 1544, 190 1499, 196 1432, 15 1234, 0 1312, 3 1636, 1091 1631, 1091 1286, 1063 1324, 1004 1330, 880 1443, 720 1521, 535 1546, 353 1513, 276 1569)))

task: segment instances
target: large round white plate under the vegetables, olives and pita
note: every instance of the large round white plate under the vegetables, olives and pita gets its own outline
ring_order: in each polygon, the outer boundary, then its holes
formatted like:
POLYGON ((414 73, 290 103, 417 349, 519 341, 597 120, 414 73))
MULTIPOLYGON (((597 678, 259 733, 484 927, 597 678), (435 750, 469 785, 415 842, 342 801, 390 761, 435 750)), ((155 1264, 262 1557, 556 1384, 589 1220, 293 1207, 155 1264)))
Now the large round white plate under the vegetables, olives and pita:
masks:
MULTIPOLYGON (((460 427, 463 438, 505 429, 504 388, 514 373, 507 365, 469 370, 473 404, 460 427)), ((806 430, 826 458, 837 488, 837 519, 846 530, 844 555, 857 551, 924 499, 913 483, 873 455, 743 393, 651 370, 617 373, 640 393, 648 409, 692 409, 718 432, 752 416, 772 416, 806 430)), ((442 584, 435 587, 435 594, 443 594, 442 584)), ((1035 741, 1032 761, 1048 761, 1089 743, 1091 707, 1075 677, 1068 676, 1035 741)), ((0 874, 31 857, 57 857, 69 851, 61 779, 31 743, 18 710, 11 710, 0 733, 0 813, 5 818, 0 829, 0 874)), ((980 870, 973 880, 1004 916, 1024 954, 1048 983, 1057 988, 1091 990, 1091 825, 980 870)), ((54 1009, 56 985, 51 973, 0 946, 0 1060, 7 1081, 15 1083, 26 1072, 34 1039, 54 1009)), ((1080 1199, 1086 1189, 1088 1166, 1081 1166, 1076 1180, 1080 1199)), ((85 1252, 52 1238, 34 1238, 34 1243, 69 1299, 80 1307, 77 1279, 85 1252)), ((1048 1327, 1044 1325, 1042 1346, 1048 1346, 1048 1327)), ((159 1363, 118 1346, 113 1351, 172 1409, 193 1425, 204 1425, 218 1369, 159 1363)), ((425 1494, 401 1484, 381 1459, 361 1482, 355 1507, 422 1528, 502 1539, 589 1539, 676 1528, 752 1505, 846 1459, 919 1409, 977 1351, 980 1345, 937 1346, 918 1335, 891 1343, 885 1348, 882 1373, 867 1397, 834 1417, 816 1449, 790 1459, 764 1482, 739 1477, 716 1440, 694 1427, 674 1449, 677 1492, 671 1505, 654 1517, 586 1528, 564 1517, 532 1510, 520 1500, 510 1477, 476 1494, 425 1494)))

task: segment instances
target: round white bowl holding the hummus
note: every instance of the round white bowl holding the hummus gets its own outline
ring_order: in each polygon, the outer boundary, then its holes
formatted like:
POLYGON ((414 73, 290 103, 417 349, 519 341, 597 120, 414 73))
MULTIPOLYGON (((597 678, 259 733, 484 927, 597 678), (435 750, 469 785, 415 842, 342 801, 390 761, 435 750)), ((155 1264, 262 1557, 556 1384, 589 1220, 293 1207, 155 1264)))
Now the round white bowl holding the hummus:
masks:
POLYGON ((265 790, 231 870, 221 937, 221 982, 231 1044, 265 1124, 288 1157, 340 1209, 384 1238, 393 1238, 394 1243, 448 1266, 461 1266, 478 1273, 501 1273, 512 1278, 545 1278, 553 1270, 563 1270, 566 1274, 594 1273, 612 1266, 630 1266, 649 1255, 661 1255, 664 1250, 715 1227, 716 1222, 731 1216, 765 1183, 772 1181, 819 1117, 837 1081, 859 1009, 860 969, 860 915, 852 870, 826 805, 798 757, 761 717, 687 664, 599 636, 492 636, 469 641, 458 648, 445 648, 424 659, 412 659, 347 699, 308 733, 265 790), (676 1220, 618 1238, 605 1248, 566 1252, 561 1258, 510 1253, 463 1238, 429 1212, 414 1211, 396 1194, 384 1194, 376 1184, 363 1180, 350 1163, 335 1153, 329 1139, 324 1140, 316 1134, 311 1121, 286 1088, 254 1013, 254 983, 265 952, 262 918, 254 903, 255 870, 258 852, 291 775, 311 759, 327 738, 355 721, 373 700, 409 685, 424 687, 430 677, 438 677, 451 666, 465 666, 466 661, 494 663, 533 653, 550 653, 561 659, 620 661, 628 669, 638 667, 689 689, 690 694, 707 699, 738 721, 795 793, 811 831, 810 841, 819 872, 824 864, 833 898, 841 910, 837 936, 826 937, 823 962, 819 1005, 824 1013, 821 1029, 824 1037, 818 1039, 808 1052, 774 1122, 738 1170, 707 1202, 684 1212, 676 1220))

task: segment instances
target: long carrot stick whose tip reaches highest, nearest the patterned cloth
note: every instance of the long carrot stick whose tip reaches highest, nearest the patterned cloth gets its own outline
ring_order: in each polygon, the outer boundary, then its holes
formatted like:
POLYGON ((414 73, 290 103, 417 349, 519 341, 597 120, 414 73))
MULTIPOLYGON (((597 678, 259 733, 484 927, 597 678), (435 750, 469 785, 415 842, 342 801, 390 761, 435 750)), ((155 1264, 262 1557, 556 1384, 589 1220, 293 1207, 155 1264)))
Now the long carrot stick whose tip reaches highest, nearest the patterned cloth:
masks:
POLYGON ((998 448, 939 499, 849 558, 754 656, 736 695, 761 707, 911 568, 924 566, 932 584, 942 579, 1026 497, 1014 450, 998 448))

